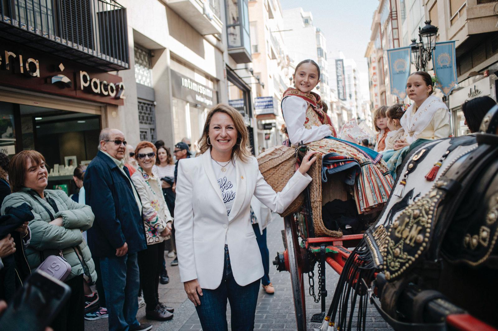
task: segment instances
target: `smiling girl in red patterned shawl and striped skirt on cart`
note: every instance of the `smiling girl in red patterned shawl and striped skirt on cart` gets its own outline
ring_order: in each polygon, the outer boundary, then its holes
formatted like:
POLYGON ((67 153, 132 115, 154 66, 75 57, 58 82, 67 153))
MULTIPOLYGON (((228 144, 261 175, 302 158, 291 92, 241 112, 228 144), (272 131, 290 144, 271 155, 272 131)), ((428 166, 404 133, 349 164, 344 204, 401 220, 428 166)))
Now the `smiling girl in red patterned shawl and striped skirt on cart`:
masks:
MULTIPOLYGON (((321 154, 336 153, 354 159, 361 172, 354 180, 354 199, 359 213, 387 201, 392 186, 381 154, 331 136, 332 126, 322 111, 320 96, 311 92, 320 82, 320 68, 313 60, 301 61, 294 74, 294 88, 283 94, 282 112, 290 144, 306 144, 321 154)), ((318 87, 317 87, 318 89, 318 87)), ((341 166, 340 162, 337 165, 341 166)))

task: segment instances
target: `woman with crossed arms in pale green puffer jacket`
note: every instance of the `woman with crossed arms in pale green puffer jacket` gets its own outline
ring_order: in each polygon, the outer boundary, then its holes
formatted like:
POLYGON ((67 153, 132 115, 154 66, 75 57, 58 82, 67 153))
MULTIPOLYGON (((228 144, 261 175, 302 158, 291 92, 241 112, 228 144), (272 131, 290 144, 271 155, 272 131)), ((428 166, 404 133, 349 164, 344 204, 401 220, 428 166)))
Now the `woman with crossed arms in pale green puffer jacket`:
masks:
POLYGON ((45 190, 48 172, 45 158, 34 150, 14 155, 8 168, 12 194, 1 206, 1 214, 9 206, 27 203, 34 219, 29 222, 31 241, 26 258, 31 270, 49 255, 59 255, 71 265, 71 274, 64 281, 71 287, 71 297, 52 323, 54 331, 84 331, 83 279, 95 282, 97 274, 90 249, 83 240, 82 231, 94 221, 90 206, 71 200, 64 191, 45 190))

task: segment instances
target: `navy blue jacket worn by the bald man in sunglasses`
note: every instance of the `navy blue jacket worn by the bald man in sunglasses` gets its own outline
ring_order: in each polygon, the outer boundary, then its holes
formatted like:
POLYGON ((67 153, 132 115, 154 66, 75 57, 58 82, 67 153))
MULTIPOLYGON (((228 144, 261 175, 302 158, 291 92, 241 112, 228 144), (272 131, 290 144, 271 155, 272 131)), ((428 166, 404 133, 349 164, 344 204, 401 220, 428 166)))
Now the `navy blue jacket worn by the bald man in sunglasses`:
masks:
POLYGON ((136 207, 126 167, 124 172, 128 178, 101 151, 85 172, 85 204, 95 214, 94 224, 87 232, 93 256, 116 256, 116 248, 124 242, 128 244, 128 254, 147 247, 141 211, 136 207))

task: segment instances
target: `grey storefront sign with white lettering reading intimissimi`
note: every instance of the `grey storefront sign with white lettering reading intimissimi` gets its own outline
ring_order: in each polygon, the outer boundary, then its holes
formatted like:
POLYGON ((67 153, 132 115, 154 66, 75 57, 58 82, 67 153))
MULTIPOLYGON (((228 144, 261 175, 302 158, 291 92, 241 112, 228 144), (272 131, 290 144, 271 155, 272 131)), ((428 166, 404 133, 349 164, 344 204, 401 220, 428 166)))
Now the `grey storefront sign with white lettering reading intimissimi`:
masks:
POLYGON ((218 103, 216 91, 171 70, 173 97, 211 108, 218 103))

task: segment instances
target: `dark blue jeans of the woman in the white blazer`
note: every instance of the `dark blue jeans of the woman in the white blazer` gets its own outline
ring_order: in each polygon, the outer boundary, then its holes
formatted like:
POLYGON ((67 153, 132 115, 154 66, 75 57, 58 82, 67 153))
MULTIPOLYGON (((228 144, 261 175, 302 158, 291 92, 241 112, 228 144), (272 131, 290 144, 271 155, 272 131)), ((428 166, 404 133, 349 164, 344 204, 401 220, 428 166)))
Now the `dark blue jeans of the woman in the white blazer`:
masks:
POLYGON ((225 267, 220 286, 216 290, 202 289, 201 304, 196 307, 204 331, 227 331, 227 298, 232 312, 232 330, 254 330, 259 279, 246 286, 235 282, 225 245, 225 267))

